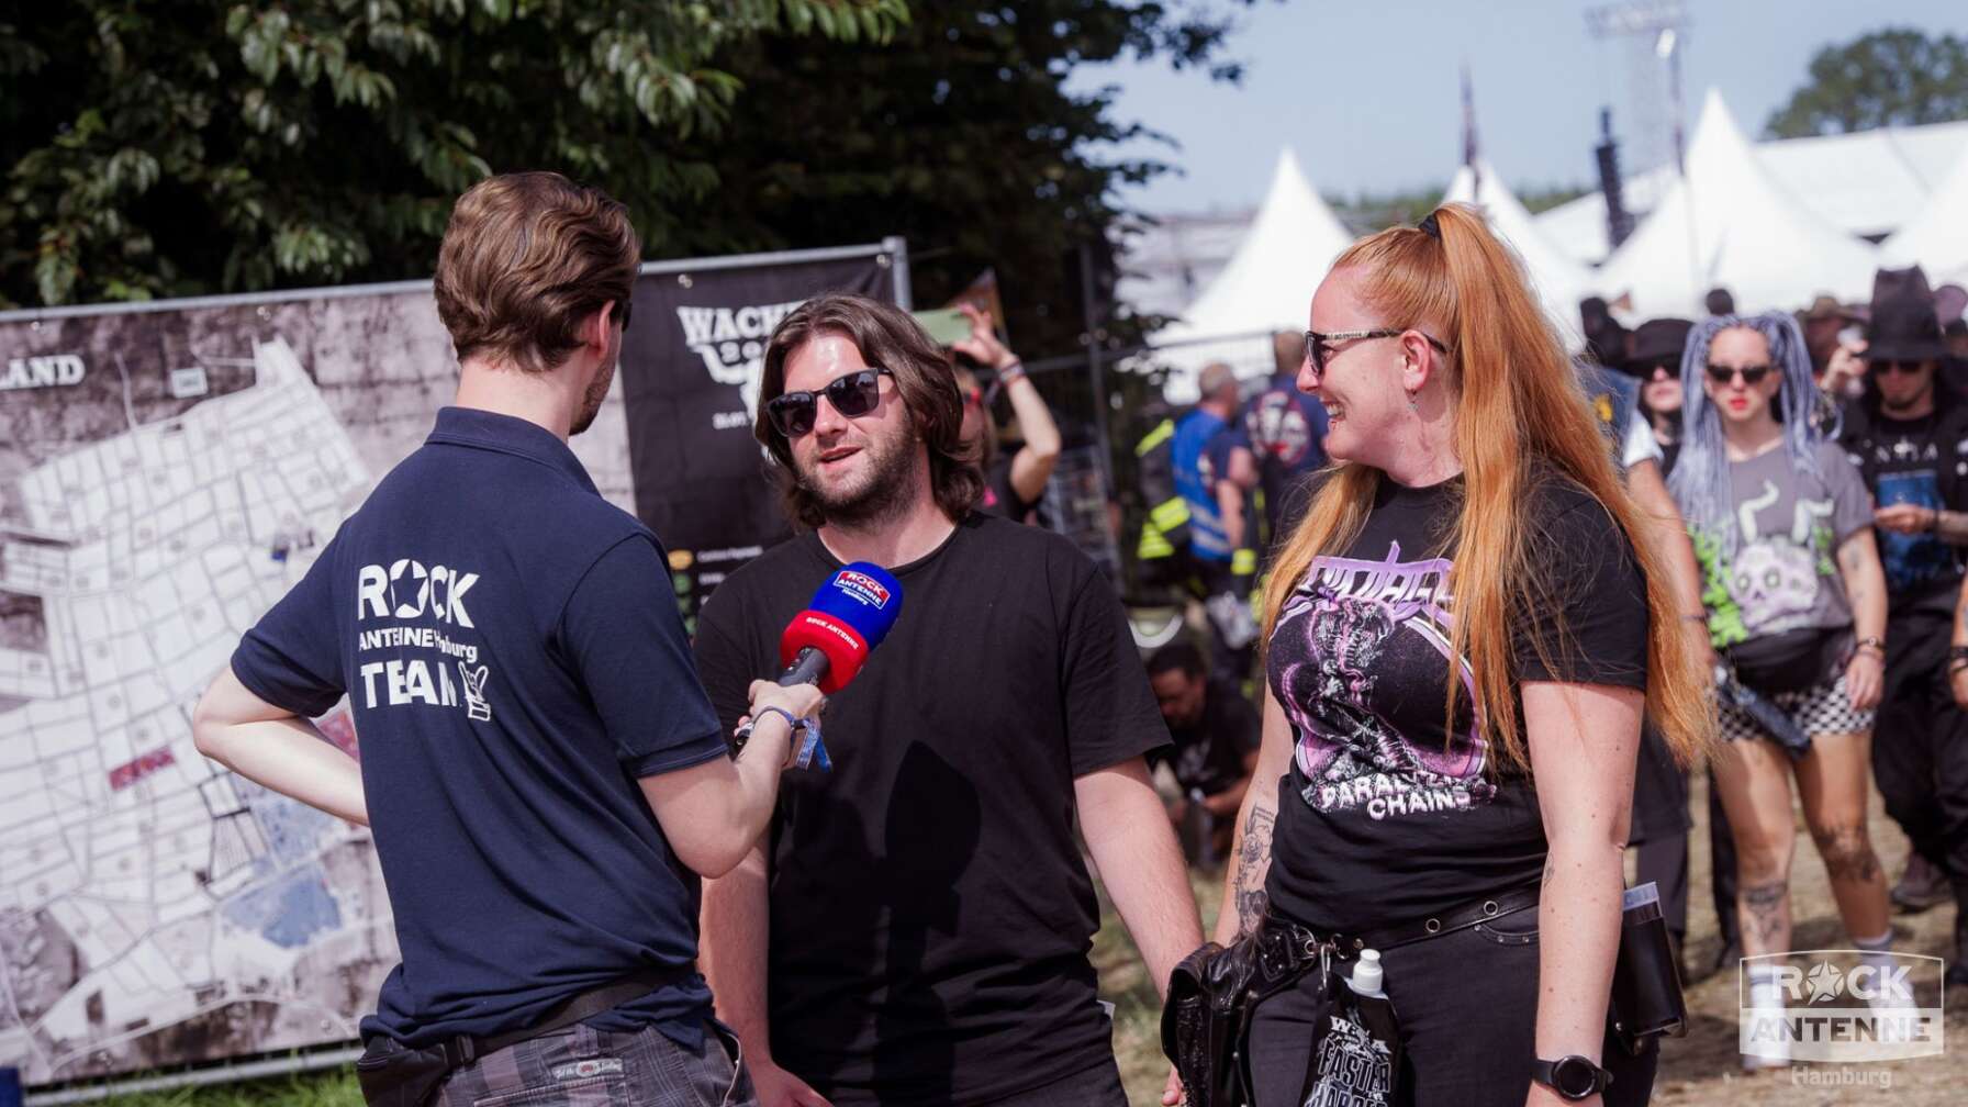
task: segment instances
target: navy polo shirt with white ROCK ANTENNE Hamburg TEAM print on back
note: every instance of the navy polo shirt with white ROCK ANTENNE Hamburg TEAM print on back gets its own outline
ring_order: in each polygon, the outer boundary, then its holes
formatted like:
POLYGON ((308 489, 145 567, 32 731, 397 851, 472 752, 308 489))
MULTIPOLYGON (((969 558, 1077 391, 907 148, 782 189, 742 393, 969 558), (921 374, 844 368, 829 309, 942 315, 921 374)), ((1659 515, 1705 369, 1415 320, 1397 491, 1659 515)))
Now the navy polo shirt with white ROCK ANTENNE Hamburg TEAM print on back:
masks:
MULTIPOLYGON (((346 691, 403 963, 364 1036, 423 1046, 697 957, 697 877, 636 780, 724 756, 663 550, 567 443, 445 408, 240 642, 254 695, 346 691)), ((703 1042, 703 977, 588 1024, 703 1042)))

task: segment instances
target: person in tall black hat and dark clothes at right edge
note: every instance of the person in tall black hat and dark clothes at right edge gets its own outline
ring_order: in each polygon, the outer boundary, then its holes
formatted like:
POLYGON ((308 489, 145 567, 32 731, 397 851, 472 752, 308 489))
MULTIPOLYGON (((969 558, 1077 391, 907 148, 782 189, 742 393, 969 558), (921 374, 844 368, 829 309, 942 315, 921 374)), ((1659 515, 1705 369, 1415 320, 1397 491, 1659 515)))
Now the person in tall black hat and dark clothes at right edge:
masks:
MULTIPOLYGON (((1864 420, 1844 445, 1874 492, 1885 567, 1885 689, 1874 776, 1917 861, 1895 888, 1907 908, 1952 892, 1956 945, 1968 951, 1968 660, 1954 626, 1968 548, 1968 402, 1919 268, 1881 270, 1866 327, 1864 420)), ((1954 959, 1950 983, 1968 983, 1954 959)))

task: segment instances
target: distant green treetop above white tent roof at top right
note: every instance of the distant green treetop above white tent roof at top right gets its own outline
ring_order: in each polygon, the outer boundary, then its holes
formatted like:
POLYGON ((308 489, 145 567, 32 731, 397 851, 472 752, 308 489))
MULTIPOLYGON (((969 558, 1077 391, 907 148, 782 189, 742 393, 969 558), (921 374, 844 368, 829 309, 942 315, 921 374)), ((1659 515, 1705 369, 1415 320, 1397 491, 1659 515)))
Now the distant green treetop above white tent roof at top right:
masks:
POLYGON ((1968 39, 1893 28, 1828 45, 1811 81, 1763 124, 1767 138, 1968 118, 1968 39))

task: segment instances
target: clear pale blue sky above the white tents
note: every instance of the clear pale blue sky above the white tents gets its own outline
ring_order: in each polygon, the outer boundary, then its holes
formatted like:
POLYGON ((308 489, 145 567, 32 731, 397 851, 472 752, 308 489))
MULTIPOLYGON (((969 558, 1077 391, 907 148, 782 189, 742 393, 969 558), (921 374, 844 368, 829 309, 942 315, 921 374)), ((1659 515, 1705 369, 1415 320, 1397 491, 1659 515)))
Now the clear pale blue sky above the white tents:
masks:
MULTIPOLYGON (((1120 118, 1171 134, 1181 150, 1139 150, 1187 169, 1124 199, 1151 213, 1256 203, 1277 160, 1297 150, 1324 193, 1446 183, 1460 158, 1460 77, 1476 87, 1484 156, 1513 187, 1588 183, 1598 110, 1630 130, 1628 51, 1586 33, 1602 0, 1260 0, 1240 16, 1228 53, 1242 87, 1167 65, 1086 67, 1075 87, 1118 85, 1120 118)), ((1687 116, 1708 87, 1744 130, 1805 81, 1828 43, 1887 26, 1968 35, 1968 0, 1687 0, 1687 116)), ((1633 169, 1628 163, 1628 169, 1633 169)))

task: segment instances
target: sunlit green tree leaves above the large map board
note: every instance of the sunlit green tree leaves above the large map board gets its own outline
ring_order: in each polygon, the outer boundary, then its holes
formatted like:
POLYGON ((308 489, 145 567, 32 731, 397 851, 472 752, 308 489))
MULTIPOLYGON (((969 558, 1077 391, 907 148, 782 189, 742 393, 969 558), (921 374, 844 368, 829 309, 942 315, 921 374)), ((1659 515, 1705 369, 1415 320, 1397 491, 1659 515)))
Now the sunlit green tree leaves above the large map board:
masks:
POLYGON ((661 227, 716 183, 659 138, 724 124, 718 51, 905 20, 903 0, 35 4, 0 24, 0 303, 425 276, 494 169, 565 169, 661 227))

